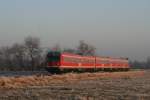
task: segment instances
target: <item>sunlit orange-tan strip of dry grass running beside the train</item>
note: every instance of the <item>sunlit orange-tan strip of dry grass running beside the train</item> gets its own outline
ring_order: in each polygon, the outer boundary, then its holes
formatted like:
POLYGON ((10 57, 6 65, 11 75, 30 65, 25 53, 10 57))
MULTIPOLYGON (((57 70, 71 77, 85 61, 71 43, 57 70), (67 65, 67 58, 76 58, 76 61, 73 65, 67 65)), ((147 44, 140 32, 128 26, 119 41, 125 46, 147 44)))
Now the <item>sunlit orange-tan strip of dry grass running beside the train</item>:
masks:
POLYGON ((63 84, 66 82, 78 82, 81 80, 92 80, 102 78, 122 78, 130 79, 144 75, 144 71, 129 71, 129 72, 105 72, 105 73, 68 73, 63 75, 33 75, 20 77, 0 77, 0 88, 26 88, 30 86, 48 86, 50 84, 63 84))

